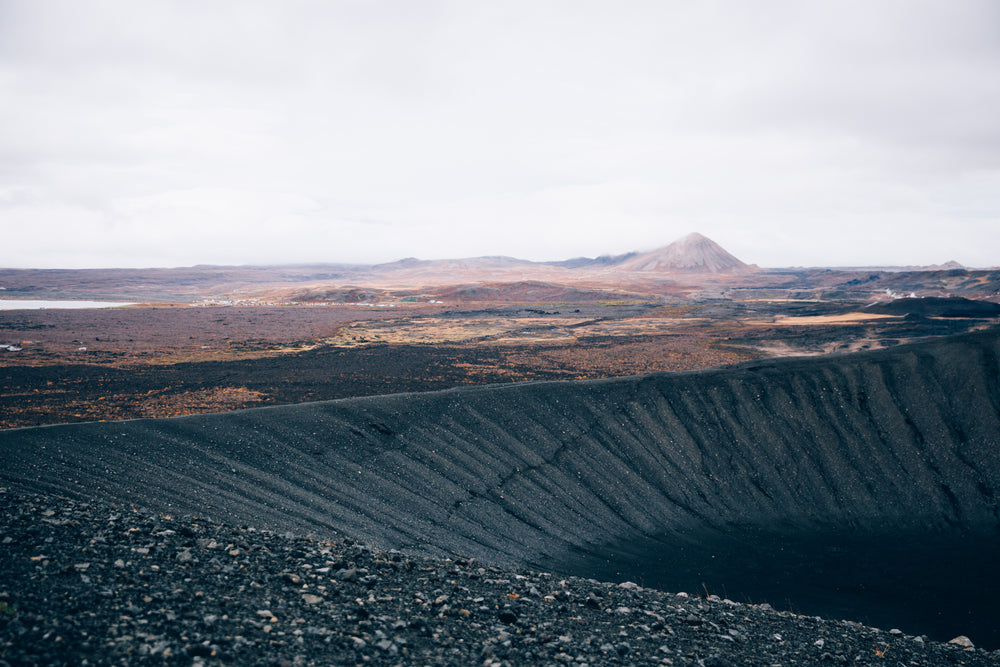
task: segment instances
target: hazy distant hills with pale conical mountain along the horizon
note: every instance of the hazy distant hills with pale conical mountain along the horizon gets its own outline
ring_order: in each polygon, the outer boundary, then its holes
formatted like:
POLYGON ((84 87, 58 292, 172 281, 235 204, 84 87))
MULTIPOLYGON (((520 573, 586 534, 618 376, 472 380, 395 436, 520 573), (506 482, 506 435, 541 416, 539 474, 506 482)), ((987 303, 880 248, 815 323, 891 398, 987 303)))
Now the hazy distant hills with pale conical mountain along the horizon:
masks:
MULTIPOLYGON (((394 294, 438 295, 439 288, 500 285, 504 298, 529 284, 629 294, 714 294, 773 298, 815 296, 870 302, 886 290, 918 296, 964 296, 1000 301, 1000 268, 967 269, 957 262, 933 267, 759 267, 711 239, 689 234, 646 252, 537 261, 507 256, 445 259, 407 257, 380 264, 196 266, 148 269, 5 269, 5 301, 86 299, 142 303, 335 301, 364 303, 394 294), (707 286, 708 292, 703 291, 707 286), (723 288, 723 286, 726 286, 723 288), (361 291, 357 291, 361 290, 361 291), (437 290, 437 291, 436 291, 437 290), (737 292, 727 290, 738 290, 737 292), (754 292, 758 290, 758 292, 754 292), (764 290, 764 291, 759 291, 764 290), (775 291, 777 290, 777 291, 775 291)), ((458 293, 464 293, 459 289, 458 293)), ((442 293, 443 294, 443 293, 442 293)), ((496 292, 483 294, 500 298, 496 292)), ((553 293, 555 294, 555 293, 553 293)), ((567 293, 568 294, 568 293, 567 293)), ((439 298, 435 296, 435 298, 439 298)), ((556 298, 555 300, 562 300, 556 298)))

